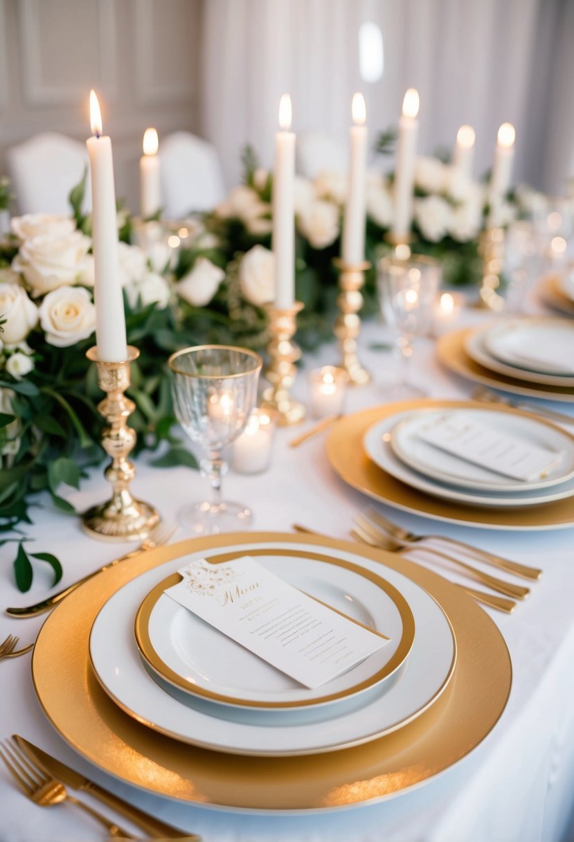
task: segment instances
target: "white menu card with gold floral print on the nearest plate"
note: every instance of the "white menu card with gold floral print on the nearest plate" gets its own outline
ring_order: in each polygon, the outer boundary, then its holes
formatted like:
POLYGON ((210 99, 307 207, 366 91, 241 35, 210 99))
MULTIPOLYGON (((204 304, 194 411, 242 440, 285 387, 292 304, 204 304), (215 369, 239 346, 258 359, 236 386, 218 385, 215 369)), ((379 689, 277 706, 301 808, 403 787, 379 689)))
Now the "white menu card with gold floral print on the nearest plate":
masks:
POLYGON ((178 573, 183 581, 167 596, 311 689, 389 642, 250 557, 226 564, 200 559, 178 573))

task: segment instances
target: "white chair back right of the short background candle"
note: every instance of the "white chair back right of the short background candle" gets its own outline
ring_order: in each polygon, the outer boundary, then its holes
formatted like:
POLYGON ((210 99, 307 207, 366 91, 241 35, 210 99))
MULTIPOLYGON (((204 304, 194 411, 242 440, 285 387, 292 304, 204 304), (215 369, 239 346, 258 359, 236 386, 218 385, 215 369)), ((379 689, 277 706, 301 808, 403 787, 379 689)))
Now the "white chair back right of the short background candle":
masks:
POLYGON ((188 131, 175 131, 160 141, 159 157, 166 219, 211 210, 225 198, 219 156, 207 141, 188 131))

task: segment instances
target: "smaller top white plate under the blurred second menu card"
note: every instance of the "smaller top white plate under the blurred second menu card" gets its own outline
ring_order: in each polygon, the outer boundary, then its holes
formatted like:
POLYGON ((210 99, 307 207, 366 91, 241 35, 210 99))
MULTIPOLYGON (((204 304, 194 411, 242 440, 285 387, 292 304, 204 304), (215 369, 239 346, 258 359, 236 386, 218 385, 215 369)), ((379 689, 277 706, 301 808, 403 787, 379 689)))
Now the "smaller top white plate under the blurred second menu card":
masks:
POLYGON ((476 488, 479 491, 523 492, 536 488, 548 488, 574 477, 574 440, 560 429, 527 418, 524 415, 501 412, 497 409, 415 409, 391 429, 391 447, 395 455, 415 471, 438 482, 457 488, 476 488), (440 418, 478 421, 492 429, 524 440, 532 445, 545 447, 562 454, 561 460, 553 466, 544 478, 530 481, 513 480, 497 474, 481 465, 465 461, 460 456, 440 450, 418 435, 428 424, 435 424, 440 418))

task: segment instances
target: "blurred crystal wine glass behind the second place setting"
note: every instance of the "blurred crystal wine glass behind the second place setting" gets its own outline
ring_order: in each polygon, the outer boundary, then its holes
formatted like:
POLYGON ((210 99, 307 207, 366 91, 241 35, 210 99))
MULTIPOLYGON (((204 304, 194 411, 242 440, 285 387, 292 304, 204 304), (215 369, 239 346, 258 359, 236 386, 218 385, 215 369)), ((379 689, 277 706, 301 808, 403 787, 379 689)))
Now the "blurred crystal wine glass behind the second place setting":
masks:
POLYGON ((379 263, 379 301, 385 322, 396 331, 401 353, 399 382, 391 387, 392 397, 424 397, 426 392, 409 379, 413 340, 429 333, 433 307, 442 274, 438 260, 412 255, 407 260, 382 258, 379 263))

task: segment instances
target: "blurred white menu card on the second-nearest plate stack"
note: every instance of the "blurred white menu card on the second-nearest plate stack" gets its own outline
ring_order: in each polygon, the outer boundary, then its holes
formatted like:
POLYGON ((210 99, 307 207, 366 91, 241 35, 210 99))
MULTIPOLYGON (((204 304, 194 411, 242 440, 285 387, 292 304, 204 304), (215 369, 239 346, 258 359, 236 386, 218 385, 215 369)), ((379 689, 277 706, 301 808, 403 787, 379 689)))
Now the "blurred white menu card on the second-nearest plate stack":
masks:
POLYGON ((421 426, 417 435, 429 445, 487 468, 503 477, 526 482, 545 477, 562 458, 562 451, 547 450, 498 432, 480 421, 444 415, 421 426))

